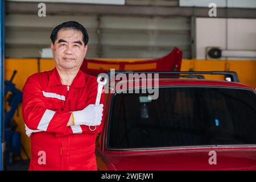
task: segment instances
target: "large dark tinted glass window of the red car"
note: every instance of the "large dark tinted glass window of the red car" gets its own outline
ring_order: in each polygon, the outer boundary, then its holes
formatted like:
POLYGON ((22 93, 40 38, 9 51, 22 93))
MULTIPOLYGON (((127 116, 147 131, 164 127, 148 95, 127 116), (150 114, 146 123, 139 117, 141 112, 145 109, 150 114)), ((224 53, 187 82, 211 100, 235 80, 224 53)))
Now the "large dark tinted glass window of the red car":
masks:
POLYGON ((213 87, 159 88, 147 94, 115 94, 109 148, 256 144, 253 90, 213 87))

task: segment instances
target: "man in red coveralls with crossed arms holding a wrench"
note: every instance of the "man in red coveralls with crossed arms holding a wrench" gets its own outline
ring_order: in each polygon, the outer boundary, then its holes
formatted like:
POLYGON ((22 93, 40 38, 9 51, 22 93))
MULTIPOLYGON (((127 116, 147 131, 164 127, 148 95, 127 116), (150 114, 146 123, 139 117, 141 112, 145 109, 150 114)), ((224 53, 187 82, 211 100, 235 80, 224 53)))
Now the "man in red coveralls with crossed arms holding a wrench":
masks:
POLYGON ((102 131, 104 92, 95 106, 97 78, 80 71, 88 40, 77 22, 55 27, 55 68, 27 78, 22 111, 31 137, 28 170, 97 170, 95 140, 102 131))

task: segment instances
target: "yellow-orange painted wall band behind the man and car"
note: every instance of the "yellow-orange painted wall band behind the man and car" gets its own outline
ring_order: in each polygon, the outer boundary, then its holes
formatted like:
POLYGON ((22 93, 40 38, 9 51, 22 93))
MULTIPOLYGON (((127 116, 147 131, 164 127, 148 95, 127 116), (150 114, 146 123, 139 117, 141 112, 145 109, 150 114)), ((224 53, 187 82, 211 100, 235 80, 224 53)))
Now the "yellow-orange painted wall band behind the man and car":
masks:
MULTIPOLYGON (((110 59, 109 59, 110 60, 110 59)), ((141 59, 122 59, 117 61, 129 61, 134 62, 141 59)), ((40 72, 48 71, 54 68, 54 62, 52 59, 40 60, 40 72)), ((13 71, 18 71, 13 82, 16 84, 16 88, 22 90, 23 85, 28 76, 39 71, 38 59, 6 59, 5 60, 5 79, 9 80, 13 71)), ((256 61, 245 60, 183 60, 181 65, 181 71, 235 71, 240 78, 240 82, 250 85, 256 88, 256 61)), ((223 76, 205 76, 210 79, 223 79, 223 76)), ((7 105, 5 104, 7 107, 7 105)), ((7 109, 7 108, 6 108, 7 109)), ((19 106, 18 113, 15 113, 14 119, 18 122, 17 131, 22 134, 22 144, 26 148, 28 155, 30 152, 30 138, 25 134, 24 121, 22 119, 22 105, 19 106)), ((26 156, 22 151, 22 157, 26 156)))

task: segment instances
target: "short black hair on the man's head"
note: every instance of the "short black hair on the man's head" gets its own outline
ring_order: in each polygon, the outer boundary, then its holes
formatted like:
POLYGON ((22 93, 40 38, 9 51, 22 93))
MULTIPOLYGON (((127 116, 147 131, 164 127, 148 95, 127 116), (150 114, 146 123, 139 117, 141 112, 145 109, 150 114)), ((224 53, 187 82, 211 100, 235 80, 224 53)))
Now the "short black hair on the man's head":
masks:
POLYGON ((50 36, 53 44, 55 43, 55 40, 57 39, 57 34, 61 30, 61 28, 72 28, 74 30, 80 31, 82 33, 82 36, 83 36, 82 40, 83 40, 85 46, 88 44, 89 36, 88 36, 88 33, 87 33, 85 27, 75 21, 64 22, 64 23, 59 24, 57 27, 53 28, 51 36, 50 36))

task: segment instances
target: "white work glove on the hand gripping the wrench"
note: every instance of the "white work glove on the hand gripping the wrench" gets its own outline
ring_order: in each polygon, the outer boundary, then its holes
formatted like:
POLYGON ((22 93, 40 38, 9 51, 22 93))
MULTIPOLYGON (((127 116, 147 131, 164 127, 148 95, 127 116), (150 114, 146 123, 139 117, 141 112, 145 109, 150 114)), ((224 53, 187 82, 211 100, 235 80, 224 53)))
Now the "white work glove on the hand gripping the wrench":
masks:
POLYGON ((90 104, 83 110, 73 111, 75 125, 98 126, 102 120, 103 104, 90 104))

